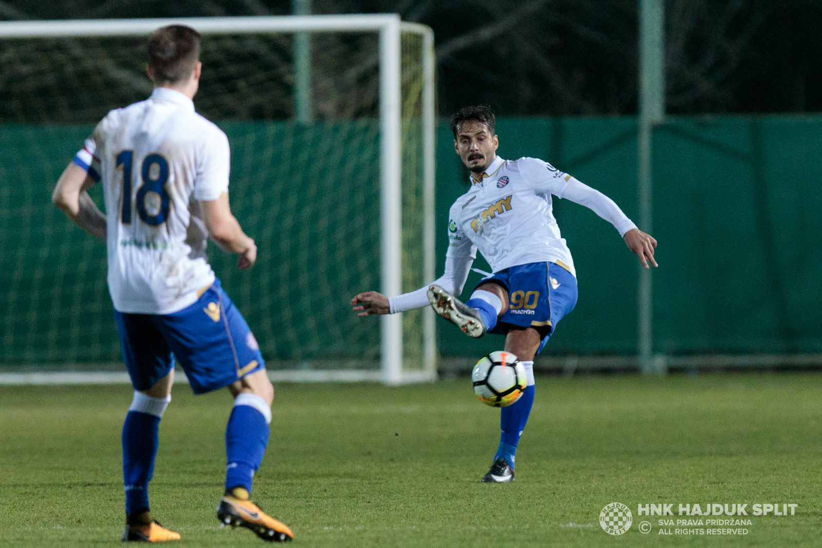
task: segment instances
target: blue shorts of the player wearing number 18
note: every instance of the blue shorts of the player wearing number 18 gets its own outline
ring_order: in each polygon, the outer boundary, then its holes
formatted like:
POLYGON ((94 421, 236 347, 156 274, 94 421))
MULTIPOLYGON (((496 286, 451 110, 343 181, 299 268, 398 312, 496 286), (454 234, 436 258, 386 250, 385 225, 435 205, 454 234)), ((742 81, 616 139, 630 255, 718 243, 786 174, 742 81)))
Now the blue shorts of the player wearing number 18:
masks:
POLYGON ((223 388, 266 366, 251 329, 218 279, 182 311, 114 315, 122 357, 136 390, 154 386, 169 374, 175 360, 194 394, 223 388))

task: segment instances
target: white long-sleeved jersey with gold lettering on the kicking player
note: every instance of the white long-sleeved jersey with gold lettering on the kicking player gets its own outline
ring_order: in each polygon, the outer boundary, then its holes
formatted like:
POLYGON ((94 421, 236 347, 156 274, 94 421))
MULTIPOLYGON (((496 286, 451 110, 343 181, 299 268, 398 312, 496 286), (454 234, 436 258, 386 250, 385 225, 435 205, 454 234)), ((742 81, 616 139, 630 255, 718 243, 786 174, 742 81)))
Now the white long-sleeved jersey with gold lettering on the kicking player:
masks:
MULTIPOLYGON (((495 273, 511 266, 552 261, 576 275, 551 200, 552 195, 562 198, 569 184, 592 189, 535 158, 504 160, 497 156, 485 173, 482 182, 473 183, 451 205, 446 256, 475 256, 479 250, 495 273)), ((608 212, 608 220, 620 234, 635 228, 616 205, 613 207, 616 211, 608 212)))

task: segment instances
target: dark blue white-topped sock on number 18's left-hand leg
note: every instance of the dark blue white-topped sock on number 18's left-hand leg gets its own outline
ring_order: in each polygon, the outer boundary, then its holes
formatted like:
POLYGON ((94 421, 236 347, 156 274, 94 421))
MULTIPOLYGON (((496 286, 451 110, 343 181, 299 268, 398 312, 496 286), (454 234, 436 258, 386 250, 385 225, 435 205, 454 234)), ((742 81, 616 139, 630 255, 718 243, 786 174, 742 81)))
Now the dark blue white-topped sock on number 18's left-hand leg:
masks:
POLYGON ((122 425, 122 480, 126 487, 126 515, 149 509, 149 481, 159 446, 159 420, 171 396, 151 398, 134 392, 122 425))

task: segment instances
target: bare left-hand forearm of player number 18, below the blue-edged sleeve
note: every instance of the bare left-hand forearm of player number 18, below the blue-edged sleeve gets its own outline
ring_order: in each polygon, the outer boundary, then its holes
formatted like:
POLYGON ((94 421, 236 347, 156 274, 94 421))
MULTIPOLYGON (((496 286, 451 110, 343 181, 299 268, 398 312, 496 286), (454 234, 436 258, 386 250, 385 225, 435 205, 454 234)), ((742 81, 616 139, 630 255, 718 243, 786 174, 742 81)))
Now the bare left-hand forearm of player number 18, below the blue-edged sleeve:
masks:
POLYGON ((54 187, 52 202, 80 228, 92 236, 105 240, 105 215, 87 192, 94 184, 94 180, 85 169, 76 163, 69 163, 58 179, 57 186, 54 187))

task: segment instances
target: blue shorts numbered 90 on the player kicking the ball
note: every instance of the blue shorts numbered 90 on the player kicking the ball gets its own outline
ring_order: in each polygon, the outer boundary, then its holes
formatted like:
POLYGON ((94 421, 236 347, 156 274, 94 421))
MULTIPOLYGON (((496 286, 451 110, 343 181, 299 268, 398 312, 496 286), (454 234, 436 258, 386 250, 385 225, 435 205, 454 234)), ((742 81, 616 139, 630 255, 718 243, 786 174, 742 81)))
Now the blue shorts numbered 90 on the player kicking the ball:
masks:
POLYGON ((477 285, 488 282, 508 291, 508 310, 489 333, 507 334, 513 327, 537 328, 545 334, 537 353, 542 352, 556 324, 576 305, 576 278, 555 263, 511 266, 477 285))

